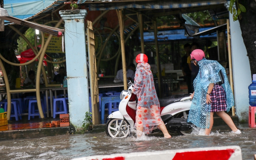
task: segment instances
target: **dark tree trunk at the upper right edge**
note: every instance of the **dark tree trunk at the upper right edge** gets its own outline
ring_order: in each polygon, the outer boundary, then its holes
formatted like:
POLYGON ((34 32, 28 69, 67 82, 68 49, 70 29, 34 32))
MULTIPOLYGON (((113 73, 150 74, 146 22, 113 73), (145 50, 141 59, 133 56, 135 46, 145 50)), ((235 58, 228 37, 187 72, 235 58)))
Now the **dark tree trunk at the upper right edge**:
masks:
POLYGON ((255 0, 239 0, 238 2, 246 8, 246 12, 240 14, 239 23, 249 58, 251 75, 253 75, 256 74, 256 2, 255 0))

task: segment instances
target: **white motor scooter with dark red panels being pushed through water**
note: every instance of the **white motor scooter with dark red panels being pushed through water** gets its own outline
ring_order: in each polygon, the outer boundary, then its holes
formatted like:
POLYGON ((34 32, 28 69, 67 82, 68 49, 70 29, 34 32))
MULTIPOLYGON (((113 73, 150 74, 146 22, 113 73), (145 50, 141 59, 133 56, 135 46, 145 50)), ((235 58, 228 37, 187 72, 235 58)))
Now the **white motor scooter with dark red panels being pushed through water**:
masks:
MULTIPOLYGON (((128 90, 123 90, 120 94, 119 111, 112 112, 107 117, 105 130, 106 134, 112 138, 125 138, 131 133, 131 128, 135 124, 137 96, 131 93, 133 84, 131 82, 129 84, 128 90)), ((159 99, 159 102, 161 118, 169 132, 180 132, 183 135, 192 132, 192 123, 187 122, 192 103, 189 95, 175 95, 159 99)), ((153 131, 160 132, 157 126, 153 131)))

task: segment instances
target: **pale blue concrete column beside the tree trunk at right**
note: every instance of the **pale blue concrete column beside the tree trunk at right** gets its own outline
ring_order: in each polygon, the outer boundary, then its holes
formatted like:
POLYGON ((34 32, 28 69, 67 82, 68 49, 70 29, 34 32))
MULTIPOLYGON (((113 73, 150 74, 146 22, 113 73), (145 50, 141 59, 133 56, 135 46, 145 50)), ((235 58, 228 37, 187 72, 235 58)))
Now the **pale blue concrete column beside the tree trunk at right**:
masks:
POLYGON ((238 116, 239 121, 248 121, 248 86, 252 83, 249 58, 242 38, 239 21, 237 20, 234 22, 233 15, 230 12, 229 22, 236 115, 238 116))

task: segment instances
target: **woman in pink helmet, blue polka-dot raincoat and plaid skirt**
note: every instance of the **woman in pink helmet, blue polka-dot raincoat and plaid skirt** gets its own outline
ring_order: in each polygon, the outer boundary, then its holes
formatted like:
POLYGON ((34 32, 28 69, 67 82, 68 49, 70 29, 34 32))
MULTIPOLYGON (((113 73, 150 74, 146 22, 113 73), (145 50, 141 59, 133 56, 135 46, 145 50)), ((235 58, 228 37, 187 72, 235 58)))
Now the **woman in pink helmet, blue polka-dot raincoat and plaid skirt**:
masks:
POLYGON ((235 134, 240 134, 231 117, 225 112, 229 112, 234 106, 234 97, 228 83, 225 68, 217 61, 206 60, 204 51, 195 49, 190 54, 194 65, 199 66, 199 73, 194 80, 194 93, 189 111, 188 122, 195 126, 206 128, 205 134, 209 135, 213 127, 213 114, 216 112, 235 134), (221 82, 220 70, 224 76, 224 83, 221 82))

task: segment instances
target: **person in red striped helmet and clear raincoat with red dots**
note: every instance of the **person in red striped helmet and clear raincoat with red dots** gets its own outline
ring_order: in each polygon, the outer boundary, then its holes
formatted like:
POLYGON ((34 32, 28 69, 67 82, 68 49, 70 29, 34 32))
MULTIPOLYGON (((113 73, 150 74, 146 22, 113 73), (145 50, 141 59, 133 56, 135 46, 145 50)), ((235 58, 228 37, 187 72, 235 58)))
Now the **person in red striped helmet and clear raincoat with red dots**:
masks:
POLYGON ((171 138, 160 116, 160 104, 157 98, 153 75, 148 58, 145 54, 136 57, 137 70, 135 72, 133 93, 137 95, 136 110, 137 137, 142 133, 149 134, 154 126, 158 126, 165 138, 171 138))

